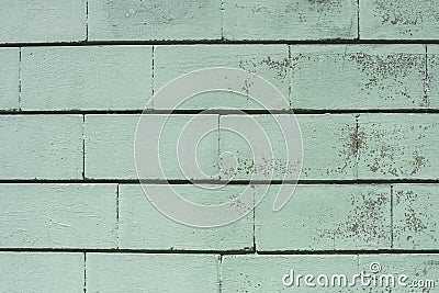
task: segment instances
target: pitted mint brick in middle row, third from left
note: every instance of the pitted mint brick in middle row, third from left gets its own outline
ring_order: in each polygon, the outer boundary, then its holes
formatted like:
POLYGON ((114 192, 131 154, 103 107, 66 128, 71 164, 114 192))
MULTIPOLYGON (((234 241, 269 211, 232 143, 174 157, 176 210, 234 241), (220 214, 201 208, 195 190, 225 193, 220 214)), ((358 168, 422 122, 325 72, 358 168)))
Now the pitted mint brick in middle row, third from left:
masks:
MULTIPOLYGON (((296 115, 302 135, 294 133, 286 115, 226 115, 221 116, 219 154, 235 154, 235 160, 221 157, 223 179, 236 180, 294 180, 297 179, 299 151, 303 150, 303 179, 352 179, 356 177, 354 133, 356 117, 353 115, 296 115), (281 125, 288 125, 283 133, 281 125), (255 124, 256 123, 256 124, 255 124), (260 129, 254 125, 260 125, 260 129), (237 131, 234 134, 224 129, 237 131), (267 138, 266 138, 267 135, 267 138), (247 139, 248 142, 246 142, 247 139), (286 159, 286 143, 293 146, 293 156, 286 159), (250 145, 250 143, 252 145, 250 145), (256 142, 256 143, 255 143, 256 142), (263 150, 270 147, 271 154, 263 150), (327 147, 324 147, 327 146, 327 147), (251 149, 251 148, 252 149, 251 149), (256 156, 254 158, 254 156, 256 156), (272 172, 272 176, 271 176, 272 172)), ((294 126, 293 126, 294 127, 294 126)))

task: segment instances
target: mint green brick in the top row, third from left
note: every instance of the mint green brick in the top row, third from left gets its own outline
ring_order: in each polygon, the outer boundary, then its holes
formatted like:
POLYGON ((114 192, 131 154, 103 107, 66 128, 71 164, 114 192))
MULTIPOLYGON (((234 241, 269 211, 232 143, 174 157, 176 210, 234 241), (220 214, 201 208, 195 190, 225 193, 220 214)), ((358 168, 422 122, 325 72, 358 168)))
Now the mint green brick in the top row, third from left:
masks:
POLYGON ((357 37, 357 1, 224 1, 226 40, 357 37))

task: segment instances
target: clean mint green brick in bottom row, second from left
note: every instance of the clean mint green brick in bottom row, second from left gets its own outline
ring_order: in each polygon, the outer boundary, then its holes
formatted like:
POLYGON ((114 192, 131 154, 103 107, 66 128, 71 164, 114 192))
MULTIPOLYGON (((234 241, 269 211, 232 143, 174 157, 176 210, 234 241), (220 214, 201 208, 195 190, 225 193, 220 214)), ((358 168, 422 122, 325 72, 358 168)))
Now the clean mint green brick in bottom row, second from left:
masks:
POLYGON ((87 292, 218 292, 214 255, 87 253, 87 292))

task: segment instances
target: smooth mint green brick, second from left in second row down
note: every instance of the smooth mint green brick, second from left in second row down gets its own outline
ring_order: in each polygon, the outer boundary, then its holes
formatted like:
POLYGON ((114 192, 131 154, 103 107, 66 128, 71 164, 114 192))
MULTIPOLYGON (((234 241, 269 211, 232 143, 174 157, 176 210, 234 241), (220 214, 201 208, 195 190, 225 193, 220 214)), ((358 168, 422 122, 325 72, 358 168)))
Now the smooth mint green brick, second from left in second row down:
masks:
POLYGON ((150 46, 22 49, 23 110, 142 110, 153 89, 150 46))

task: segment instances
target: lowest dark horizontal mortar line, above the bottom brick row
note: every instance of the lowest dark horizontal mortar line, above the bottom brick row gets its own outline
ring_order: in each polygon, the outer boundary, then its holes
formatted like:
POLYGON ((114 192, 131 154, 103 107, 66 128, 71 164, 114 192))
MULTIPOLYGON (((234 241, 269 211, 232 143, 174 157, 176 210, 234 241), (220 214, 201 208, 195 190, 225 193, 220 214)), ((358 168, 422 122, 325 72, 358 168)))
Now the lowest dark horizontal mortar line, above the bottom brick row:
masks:
POLYGON ((438 255, 439 249, 376 249, 376 250, 183 250, 183 249, 94 249, 94 248, 0 248, 0 252, 58 252, 58 253, 144 253, 144 255, 222 255, 222 256, 337 256, 337 255, 438 255))

